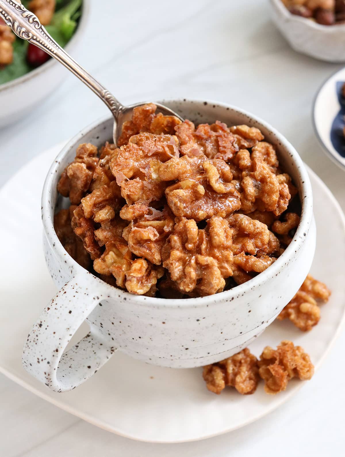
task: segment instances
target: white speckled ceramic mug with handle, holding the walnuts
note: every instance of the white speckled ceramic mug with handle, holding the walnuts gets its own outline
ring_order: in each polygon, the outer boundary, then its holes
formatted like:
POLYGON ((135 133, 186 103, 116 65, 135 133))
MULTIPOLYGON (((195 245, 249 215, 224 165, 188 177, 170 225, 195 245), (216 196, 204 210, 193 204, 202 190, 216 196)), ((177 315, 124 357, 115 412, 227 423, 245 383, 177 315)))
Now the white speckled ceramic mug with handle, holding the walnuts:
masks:
POLYGON ((164 103, 196 123, 219 119, 229 125, 260 128, 265 138, 277 146, 283 169, 298 187, 301 222, 293 242, 274 264, 229 291, 173 300, 119 290, 79 266, 64 250, 53 227, 54 211, 66 200, 56 190, 63 169, 73 160, 79 143, 101 146, 109 140, 113 120, 97 122, 83 130, 57 156, 44 185, 44 250, 48 269, 61 289, 32 327, 23 353, 25 369, 57 392, 83 383, 117 350, 173 368, 199 367, 231 356, 271 324, 311 266, 316 241, 312 190, 293 146, 266 122, 238 108, 206 101, 164 103), (88 335, 66 351, 85 319, 90 326, 88 335))

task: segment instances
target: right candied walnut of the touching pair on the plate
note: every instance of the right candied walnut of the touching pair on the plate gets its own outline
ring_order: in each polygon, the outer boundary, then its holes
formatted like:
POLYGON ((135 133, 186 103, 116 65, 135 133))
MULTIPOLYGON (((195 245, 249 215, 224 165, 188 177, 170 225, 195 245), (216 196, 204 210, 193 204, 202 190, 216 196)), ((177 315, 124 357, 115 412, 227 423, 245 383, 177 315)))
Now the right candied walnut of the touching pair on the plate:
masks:
POLYGON ((293 377, 301 380, 311 379, 314 365, 301 346, 294 346, 291 341, 282 341, 277 349, 266 346, 259 364, 259 375, 265 381, 266 393, 278 393, 286 389, 293 377))

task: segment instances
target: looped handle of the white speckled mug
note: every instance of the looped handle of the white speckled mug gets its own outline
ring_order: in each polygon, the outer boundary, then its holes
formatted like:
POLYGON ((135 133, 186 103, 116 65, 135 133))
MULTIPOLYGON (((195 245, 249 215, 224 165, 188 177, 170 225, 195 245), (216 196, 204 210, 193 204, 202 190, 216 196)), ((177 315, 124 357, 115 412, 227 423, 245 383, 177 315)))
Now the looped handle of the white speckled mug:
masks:
POLYGON ((88 275, 85 281, 85 272, 78 273, 57 292, 24 345, 23 367, 55 392, 66 392, 84 383, 117 349, 114 341, 93 325, 82 340, 65 351, 80 325, 105 298, 104 294, 93 293, 100 289, 100 280, 88 275))

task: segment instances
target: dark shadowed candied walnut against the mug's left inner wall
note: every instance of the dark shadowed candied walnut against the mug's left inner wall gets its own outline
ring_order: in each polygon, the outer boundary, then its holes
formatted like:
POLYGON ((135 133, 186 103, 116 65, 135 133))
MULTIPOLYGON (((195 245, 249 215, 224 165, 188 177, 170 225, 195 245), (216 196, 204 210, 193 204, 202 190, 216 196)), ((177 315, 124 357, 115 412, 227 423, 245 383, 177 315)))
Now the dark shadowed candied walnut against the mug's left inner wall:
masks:
POLYGON ((73 216, 74 209, 75 206, 71 206, 69 209, 62 209, 55 214, 54 228, 57 238, 60 240, 68 254, 78 262, 80 266, 88 270, 91 266, 90 256, 84 249, 81 240, 73 232, 71 226, 71 215, 73 216))

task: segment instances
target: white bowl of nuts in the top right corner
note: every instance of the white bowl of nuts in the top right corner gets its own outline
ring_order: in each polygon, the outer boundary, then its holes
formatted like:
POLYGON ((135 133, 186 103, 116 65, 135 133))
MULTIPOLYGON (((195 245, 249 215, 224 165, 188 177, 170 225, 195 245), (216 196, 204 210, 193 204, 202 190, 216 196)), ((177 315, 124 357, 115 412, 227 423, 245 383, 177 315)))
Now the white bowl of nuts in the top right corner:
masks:
POLYGON ((291 14, 281 0, 270 0, 271 16, 298 53, 326 62, 345 62, 345 24, 323 26, 291 14))

